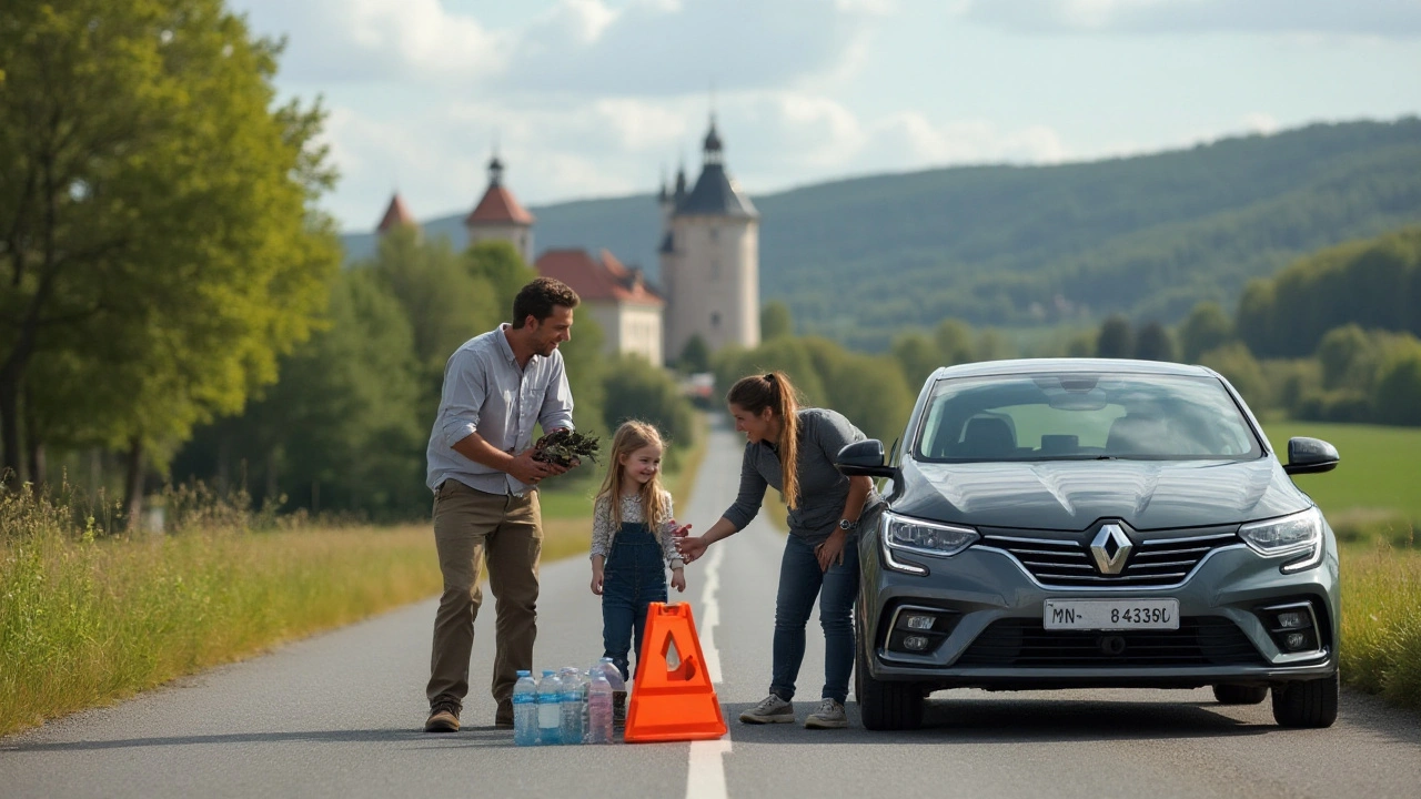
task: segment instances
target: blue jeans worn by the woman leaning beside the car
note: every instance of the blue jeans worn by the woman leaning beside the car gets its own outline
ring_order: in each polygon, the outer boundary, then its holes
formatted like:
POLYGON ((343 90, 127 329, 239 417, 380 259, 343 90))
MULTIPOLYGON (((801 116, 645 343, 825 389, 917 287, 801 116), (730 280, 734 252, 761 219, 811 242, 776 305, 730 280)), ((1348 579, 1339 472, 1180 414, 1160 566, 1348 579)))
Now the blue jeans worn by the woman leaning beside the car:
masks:
POLYGON ((844 562, 828 572, 818 569, 814 546, 799 536, 784 542, 780 560, 780 593, 774 601, 774 671, 770 692, 786 702, 794 698, 794 680, 804 661, 804 626, 818 597, 818 623, 824 628, 826 699, 848 698, 854 670, 854 597, 858 594, 858 536, 844 542, 844 562))

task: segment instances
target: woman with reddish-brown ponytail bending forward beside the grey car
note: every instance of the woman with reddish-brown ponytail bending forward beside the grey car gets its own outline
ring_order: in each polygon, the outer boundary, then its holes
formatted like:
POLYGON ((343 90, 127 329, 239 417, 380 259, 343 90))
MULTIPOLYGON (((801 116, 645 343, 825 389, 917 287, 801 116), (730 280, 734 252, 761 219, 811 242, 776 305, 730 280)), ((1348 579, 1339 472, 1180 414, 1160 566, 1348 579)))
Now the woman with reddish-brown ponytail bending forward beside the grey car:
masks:
POLYGON ((834 456, 864 434, 841 414, 800 408, 784 372, 739 380, 726 395, 735 429, 745 434, 740 493, 705 535, 681 540, 688 563, 755 519, 766 486, 789 506, 790 535, 774 601, 774 668, 770 695, 740 714, 746 724, 791 724, 794 680, 804 660, 804 626, 814 599, 824 627, 824 691, 804 721, 810 729, 848 726, 844 699, 854 668, 853 607, 858 591, 858 518, 878 502, 868 478, 845 478, 834 456))

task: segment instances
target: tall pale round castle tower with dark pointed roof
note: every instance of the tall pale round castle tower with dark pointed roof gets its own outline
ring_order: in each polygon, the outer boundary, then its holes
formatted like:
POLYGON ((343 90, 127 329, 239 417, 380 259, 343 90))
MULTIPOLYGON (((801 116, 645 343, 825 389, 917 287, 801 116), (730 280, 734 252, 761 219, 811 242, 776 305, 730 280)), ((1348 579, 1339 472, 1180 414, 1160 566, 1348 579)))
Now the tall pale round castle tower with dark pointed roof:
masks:
POLYGON ((681 357, 692 336, 712 351, 728 344, 755 347, 760 343, 760 215, 725 171, 715 117, 695 188, 686 191, 681 169, 671 200, 661 245, 669 306, 666 357, 681 357))

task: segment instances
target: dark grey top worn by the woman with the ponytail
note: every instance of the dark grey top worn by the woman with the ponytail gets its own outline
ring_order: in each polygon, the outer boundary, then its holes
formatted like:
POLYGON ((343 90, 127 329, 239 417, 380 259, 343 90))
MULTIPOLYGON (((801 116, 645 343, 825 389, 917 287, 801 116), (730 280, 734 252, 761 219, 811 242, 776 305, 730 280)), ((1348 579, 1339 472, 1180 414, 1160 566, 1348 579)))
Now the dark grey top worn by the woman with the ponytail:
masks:
MULTIPOLYGON (((799 412, 799 502, 790 508, 790 535, 820 543, 838 529, 848 500, 848 478, 834 468, 844 446, 864 441, 864 434, 838 411, 804 408, 799 412)), ((767 442, 746 444, 740 463, 740 492, 725 519, 739 532, 760 512, 764 489, 784 489, 779 452, 767 442)), ((870 492, 864 509, 878 502, 870 492)))

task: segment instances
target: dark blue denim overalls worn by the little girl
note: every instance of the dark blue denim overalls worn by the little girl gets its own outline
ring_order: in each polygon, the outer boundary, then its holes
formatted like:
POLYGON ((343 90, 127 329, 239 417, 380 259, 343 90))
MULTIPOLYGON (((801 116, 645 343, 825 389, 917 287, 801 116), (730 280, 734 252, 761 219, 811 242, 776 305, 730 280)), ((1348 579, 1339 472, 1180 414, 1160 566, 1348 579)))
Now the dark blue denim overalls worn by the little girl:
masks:
POLYGON ((645 523, 622 522, 612 536, 612 550, 603 563, 603 657, 627 671, 632 634, 637 637, 637 671, 641 671, 641 634, 647 608, 666 601, 666 562, 661 545, 645 523))

